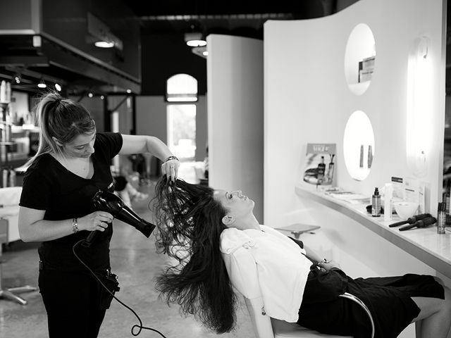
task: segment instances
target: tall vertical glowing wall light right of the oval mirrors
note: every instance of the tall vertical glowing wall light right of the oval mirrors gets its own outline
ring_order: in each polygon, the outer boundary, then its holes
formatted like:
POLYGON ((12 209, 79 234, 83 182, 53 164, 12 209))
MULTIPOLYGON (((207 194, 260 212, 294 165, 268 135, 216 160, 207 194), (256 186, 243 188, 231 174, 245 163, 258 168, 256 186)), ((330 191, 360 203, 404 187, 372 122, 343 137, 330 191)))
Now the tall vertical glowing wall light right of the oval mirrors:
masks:
POLYGON ((432 68, 430 40, 414 40, 407 64, 407 167, 416 177, 427 173, 427 156, 431 154, 432 130, 432 68))

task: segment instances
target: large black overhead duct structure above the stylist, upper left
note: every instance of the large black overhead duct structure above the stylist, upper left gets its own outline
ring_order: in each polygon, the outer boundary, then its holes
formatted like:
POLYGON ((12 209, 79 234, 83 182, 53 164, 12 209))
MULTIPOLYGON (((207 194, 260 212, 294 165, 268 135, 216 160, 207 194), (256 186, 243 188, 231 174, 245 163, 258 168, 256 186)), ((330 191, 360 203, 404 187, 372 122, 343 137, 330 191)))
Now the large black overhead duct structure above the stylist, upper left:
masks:
POLYGON ((0 77, 13 89, 35 89, 27 82, 47 77, 68 94, 140 94, 139 21, 123 1, 15 0, 1 8, 0 77), (16 74, 24 81, 13 81, 16 74))

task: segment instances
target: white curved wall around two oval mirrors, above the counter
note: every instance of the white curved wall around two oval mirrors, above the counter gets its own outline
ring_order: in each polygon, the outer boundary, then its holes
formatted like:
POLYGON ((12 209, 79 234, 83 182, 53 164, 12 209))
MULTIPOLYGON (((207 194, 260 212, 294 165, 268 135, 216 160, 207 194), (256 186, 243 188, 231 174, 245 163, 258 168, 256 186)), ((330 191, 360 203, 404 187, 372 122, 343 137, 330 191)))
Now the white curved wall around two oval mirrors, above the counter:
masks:
POLYGON ((427 155, 428 205, 441 199, 445 68, 442 1, 360 0, 343 11, 313 20, 268 21, 265 60, 265 223, 298 208, 293 187, 302 180, 307 143, 335 143, 337 184, 370 196, 390 177, 410 177, 406 160, 407 58, 414 39, 426 35, 433 61, 432 149, 427 155), (350 92, 345 49, 352 29, 366 23, 376 42, 376 66, 366 92, 350 92), (402 24, 401 24, 402 23, 402 24), (283 37, 283 38, 282 38, 283 37), (342 140, 357 110, 369 116, 374 157, 366 180, 347 173, 342 140), (284 165, 280 165, 283 163, 284 165))

